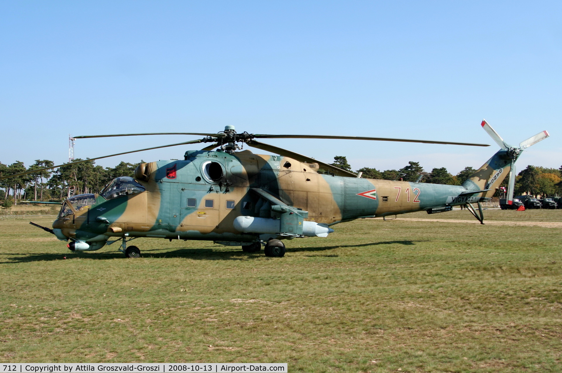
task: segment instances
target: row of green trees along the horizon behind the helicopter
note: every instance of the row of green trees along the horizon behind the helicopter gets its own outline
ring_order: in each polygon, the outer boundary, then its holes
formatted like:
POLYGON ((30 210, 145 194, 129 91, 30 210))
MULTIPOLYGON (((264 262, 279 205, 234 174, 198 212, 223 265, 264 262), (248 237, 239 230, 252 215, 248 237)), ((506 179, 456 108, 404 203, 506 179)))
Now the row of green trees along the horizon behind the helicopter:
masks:
MULTIPOLYGON (((77 158, 75 161, 81 161, 77 158)), ((141 160, 139 163, 144 163, 141 160)), ((133 176, 139 163, 121 161, 115 167, 102 167, 93 160, 69 164, 57 170, 43 170, 27 175, 0 180, 0 204, 10 207, 18 201, 62 201, 70 195, 99 193, 107 183, 119 176, 133 176)), ((25 167, 24 162, 16 161, 11 165, 0 162, 0 176, 19 174, 20 172, 38 170, 55 165, 53 161, 36 160, 33 165, 25 167)), ((330 165, 346 171, 352 171, 344 156, 334 157, 330 165)), ((324 172, 321 171, 320 172, 324 172)), ((421 183, 461 185, 476 172, 473 167, 465 167, 452 175, 445 167, 435 167, 427 172, 419 162, 410 161, 400 170, 379 171, 363 167, 355 172, 362 172, 363 178, 382 180, 419 181, 421 183)), ((502 183, 507 187, 507 178, 502 183)), ((527 166, 515 179, 515 195, 532 194, 539 197, 562 195, 562 166, 559 169, 527 166)), ((499 193, 497 193, 499 196, 499 193)))

